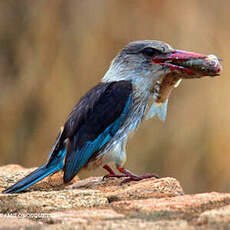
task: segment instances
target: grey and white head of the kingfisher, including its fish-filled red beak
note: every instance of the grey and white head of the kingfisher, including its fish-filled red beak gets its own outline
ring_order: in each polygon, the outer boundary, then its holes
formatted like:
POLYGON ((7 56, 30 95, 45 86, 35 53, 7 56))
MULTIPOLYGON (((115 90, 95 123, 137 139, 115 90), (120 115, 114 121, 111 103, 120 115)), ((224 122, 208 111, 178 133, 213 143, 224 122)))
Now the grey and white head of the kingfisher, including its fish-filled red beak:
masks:
POLYGON ((130 80, 140 87, 149 86, 169 96, 180 79, 218 76, 222 66, 214 55, 204 55, 172 48, 154 41, 134 41, 125 46, 112 61, 103 81, 130 80), (164 91, 164 92, 163 92, 164 91))

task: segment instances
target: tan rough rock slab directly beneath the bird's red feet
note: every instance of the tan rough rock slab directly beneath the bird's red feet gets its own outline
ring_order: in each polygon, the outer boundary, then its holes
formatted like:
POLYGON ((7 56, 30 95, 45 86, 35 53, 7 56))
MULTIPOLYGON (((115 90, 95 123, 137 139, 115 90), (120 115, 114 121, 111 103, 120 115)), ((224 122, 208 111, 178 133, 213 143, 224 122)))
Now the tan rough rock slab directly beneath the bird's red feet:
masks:
POLYGON ((120 185, 122 180, 118 178, 102 180, 101 177, 90 177, 83 181, 77 181, 67 189, 97 189, 103 192, 109 201, 173 197, 184 194, 180 183, 170 177, 152 178, 120 185))

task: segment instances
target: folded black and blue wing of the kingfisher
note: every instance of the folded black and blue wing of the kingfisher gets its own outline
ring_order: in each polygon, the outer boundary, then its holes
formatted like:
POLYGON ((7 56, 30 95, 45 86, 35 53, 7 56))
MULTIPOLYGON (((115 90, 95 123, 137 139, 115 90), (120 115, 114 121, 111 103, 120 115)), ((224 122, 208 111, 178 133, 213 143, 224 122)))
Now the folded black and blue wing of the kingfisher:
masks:
POLYGON ((132 104, 129 81, 100 83, 91 89, 71 112, 64 128, 69 148, 64 166, 64 181, 70 181, 116 134, 132 104))

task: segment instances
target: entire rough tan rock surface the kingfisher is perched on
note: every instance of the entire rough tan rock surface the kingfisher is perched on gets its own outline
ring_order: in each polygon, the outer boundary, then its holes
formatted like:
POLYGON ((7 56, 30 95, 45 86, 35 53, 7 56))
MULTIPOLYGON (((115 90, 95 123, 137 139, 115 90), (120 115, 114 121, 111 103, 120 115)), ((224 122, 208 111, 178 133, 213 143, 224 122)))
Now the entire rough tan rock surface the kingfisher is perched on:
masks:
MULTIPOLYGON (((33 169, 0 167, 0 192, 33 169)), ((230 194, 184 194, 174 178, 122 179, 57 173, 26 192, 0 194, 0 229, 230 229, 230 194)))

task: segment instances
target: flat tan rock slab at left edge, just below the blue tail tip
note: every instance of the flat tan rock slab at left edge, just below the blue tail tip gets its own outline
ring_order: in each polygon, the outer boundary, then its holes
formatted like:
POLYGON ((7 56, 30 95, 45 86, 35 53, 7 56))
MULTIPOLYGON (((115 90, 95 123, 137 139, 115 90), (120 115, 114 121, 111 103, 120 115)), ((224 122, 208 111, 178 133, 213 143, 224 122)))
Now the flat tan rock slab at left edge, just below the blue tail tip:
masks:
POLYGON ((33 191, 22 194, 0 194, 0 212, 50 212, 76 207, 94 207, 108 201, 94 190, 33 191))

